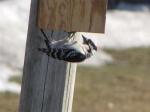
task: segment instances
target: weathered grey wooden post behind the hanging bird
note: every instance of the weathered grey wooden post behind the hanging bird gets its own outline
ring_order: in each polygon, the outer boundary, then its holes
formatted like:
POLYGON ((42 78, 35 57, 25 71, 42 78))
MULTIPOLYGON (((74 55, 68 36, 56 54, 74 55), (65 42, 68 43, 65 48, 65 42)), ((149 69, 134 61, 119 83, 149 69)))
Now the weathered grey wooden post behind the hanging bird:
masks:
MULTIPOLYGON (((31 1, 19 112, 71 112, 76 64, 48 58, 36 26, 38 0, 31 1)), ((54 32, 55 40, 64 32, 54 32)))

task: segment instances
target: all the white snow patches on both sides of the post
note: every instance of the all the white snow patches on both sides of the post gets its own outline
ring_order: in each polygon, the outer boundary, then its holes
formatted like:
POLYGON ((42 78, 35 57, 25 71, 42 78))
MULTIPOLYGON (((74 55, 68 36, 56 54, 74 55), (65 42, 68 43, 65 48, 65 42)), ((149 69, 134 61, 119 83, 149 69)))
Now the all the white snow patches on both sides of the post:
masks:
MULTIPOLYGON (((0 91, 19 92, 20 86, 8 81, 22 69, 27 34, 30 0, 0 1, 0 91)), ((85 34, 100 48, 129 48, 150 46, 150 6, 120 4, 107 12, 106 34, 85 34)), ((97 53, 86 63, 110 63, 112 57, 97 53)))

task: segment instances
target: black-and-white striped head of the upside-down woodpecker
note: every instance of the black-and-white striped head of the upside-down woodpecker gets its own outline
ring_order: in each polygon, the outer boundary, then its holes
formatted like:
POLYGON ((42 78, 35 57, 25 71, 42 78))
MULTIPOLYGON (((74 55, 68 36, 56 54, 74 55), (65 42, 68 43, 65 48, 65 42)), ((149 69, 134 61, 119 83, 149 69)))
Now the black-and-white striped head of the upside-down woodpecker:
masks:
POLYGON ((89 46, 90 52, 97 51, 97 46, 91 39, 87 39, 85 36, 82 35, 83 43, 89 46))

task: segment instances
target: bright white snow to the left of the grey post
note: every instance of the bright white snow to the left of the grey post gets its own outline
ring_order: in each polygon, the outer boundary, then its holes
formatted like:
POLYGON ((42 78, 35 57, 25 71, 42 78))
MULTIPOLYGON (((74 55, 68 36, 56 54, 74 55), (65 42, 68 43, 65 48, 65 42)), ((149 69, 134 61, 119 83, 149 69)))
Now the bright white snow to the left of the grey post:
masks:
POLYGON ((8 79, 23 66, 30 0, 0 1, 0 91, 20 92, 8 79))

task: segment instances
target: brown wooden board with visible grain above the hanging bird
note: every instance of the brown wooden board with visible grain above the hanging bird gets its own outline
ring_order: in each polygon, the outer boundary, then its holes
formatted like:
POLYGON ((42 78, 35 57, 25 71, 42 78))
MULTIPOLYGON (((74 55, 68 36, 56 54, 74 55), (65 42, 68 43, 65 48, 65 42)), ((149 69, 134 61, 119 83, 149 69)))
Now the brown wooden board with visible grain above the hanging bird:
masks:
POLYGON ((39 0, 38 27, 104 33, 107 0, 39 0))

